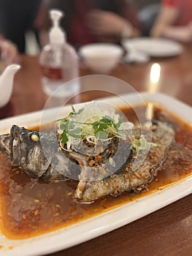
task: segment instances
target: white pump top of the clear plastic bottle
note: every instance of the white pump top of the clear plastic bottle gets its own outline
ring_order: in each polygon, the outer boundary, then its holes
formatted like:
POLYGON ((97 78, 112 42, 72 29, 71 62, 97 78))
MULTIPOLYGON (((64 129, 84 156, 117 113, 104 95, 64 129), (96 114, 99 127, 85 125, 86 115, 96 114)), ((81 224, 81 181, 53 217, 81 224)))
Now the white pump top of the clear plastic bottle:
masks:
POLYGON ((50 10, 50 18, 53 21, 53 27, 50 29, 50 44, 63 44, 66 41, 65 33, 60 26, 63 15, 61 10, 50 10))

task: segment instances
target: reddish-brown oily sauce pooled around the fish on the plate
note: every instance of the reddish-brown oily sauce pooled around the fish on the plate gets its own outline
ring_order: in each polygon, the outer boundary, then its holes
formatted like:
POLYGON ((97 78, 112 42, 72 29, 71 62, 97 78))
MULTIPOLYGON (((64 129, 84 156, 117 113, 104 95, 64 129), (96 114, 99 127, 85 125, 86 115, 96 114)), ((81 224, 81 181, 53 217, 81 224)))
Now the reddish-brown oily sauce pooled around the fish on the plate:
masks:
MULTIPOLYGON (((123 112, 128 120, 134 121, 133 111, 123 109, 123 112)), ((73 197, 77 181, 34 181, 18 167, 11 167, 9 160, 0 154, 0 224, 4 236, 20 239, 47 233, 138 200, 191 175, 192 128, 163 108, 155 107, 154 113, 155 119, 172 122, 176 130, 175 142, 158 176, 149 184, 149 190, 140 194, 125 192, 82 204, 73 197)))

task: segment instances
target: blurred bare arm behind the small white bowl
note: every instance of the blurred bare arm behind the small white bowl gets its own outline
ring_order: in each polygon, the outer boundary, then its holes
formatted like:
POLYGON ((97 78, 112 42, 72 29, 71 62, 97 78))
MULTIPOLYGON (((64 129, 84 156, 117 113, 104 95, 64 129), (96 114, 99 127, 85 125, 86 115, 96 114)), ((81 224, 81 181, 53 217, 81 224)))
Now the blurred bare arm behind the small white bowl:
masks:
POLYGON ((92 34, 120 35, 127 20, 114 12, 93 10, 88 13, 87 27, 92 34))

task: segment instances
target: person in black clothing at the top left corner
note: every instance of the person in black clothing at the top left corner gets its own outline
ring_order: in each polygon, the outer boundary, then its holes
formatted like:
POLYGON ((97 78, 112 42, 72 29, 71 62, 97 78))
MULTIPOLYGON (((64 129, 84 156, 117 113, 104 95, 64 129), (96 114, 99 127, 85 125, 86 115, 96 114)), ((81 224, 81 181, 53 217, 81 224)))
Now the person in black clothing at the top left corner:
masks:
POLYGON ((26 31, 34 31, 39 7, 42 0, 0 0, 0 34, 17 45, 20 53, 26 51, 26 31))

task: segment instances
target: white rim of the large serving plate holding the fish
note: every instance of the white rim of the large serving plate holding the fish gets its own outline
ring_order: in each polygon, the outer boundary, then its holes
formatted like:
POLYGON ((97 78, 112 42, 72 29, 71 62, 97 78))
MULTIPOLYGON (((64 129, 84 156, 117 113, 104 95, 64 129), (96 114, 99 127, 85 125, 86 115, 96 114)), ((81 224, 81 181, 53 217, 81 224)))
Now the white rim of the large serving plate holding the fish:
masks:
MULTIPOLYGON (((140 95, 144 100, 160 103, 167 110, 172 111, 172 113, 182 117, 183 120, 188 121, 188 123, 192 125, 192 108, 188 105, 165 94, 142 93, 140 95)), ((134 105, 134 103, 137 105, 138 103, 138 97, 135 97, 135 94, 126 95, 126 99, 132 105, 134 105)), ((108 99, 108 102, 114 101, 117 103, 118 99, 115 97, 108 99)), ((69 110, 71 110, 71 108, 67 106, 64 111, 69 113, 69 110)), ((56 112, 57 109, 47 110, 47 118, 45 118, 47 122, 53 121, 53 116, 55 117, 56 112)), ((9 132, 9 128, 12 124, 23 125, 25 127, 38 125, 41 117, 41 112, 35 112, 4 119, 0 121, 0 134, 9 132)), ((7 239, 0 234, 0 245, 3 246, 0 250, 0 255, 45 255, 61 249, 66 249, 144 217, 159 208, 169 205, 169 203, 173 203, 174 201, 191 194, 191 192, 192 176, 189 176, 161 191, 154 192, 139 200, 126 203, 125 205, 114 208, 104 214, 99 214, 96 217, 92 217, 42 236, 14 241, 7 239), (9 246, 12 246, 12 249, 10 249, 9 246)))

